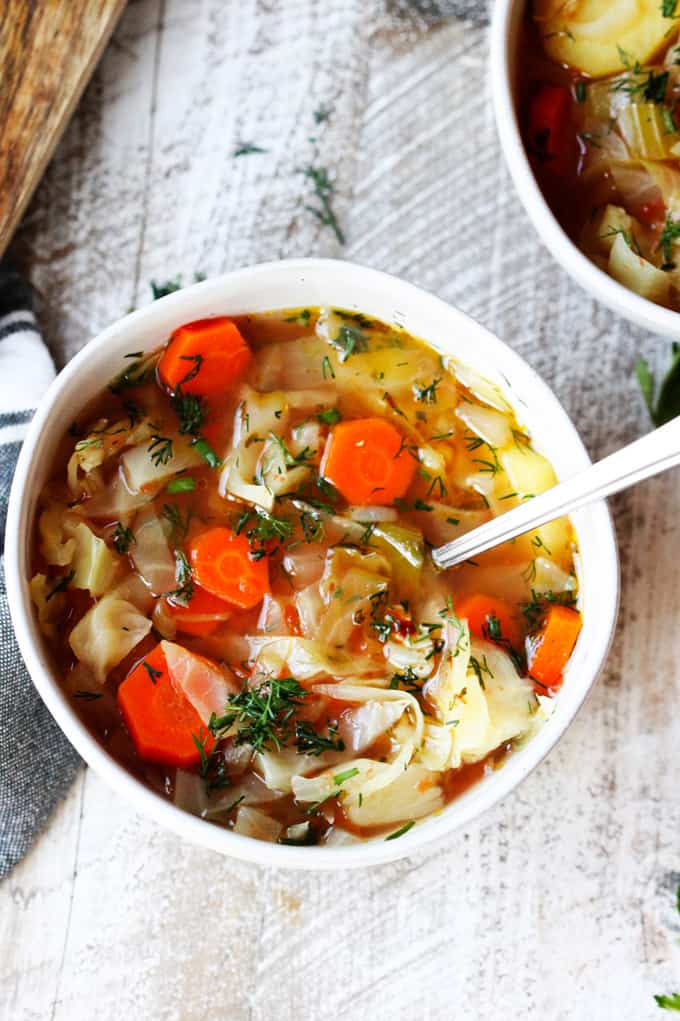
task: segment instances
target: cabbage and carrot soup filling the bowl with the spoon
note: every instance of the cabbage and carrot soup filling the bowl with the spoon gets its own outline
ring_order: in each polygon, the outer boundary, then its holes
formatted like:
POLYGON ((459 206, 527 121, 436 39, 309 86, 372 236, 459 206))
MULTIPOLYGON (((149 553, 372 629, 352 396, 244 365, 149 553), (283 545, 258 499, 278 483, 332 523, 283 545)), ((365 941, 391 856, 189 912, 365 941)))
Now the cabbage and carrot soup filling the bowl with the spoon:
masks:
POLYGON ((63 438, 32 594, 83 721, 160 794, 264 840, 391 839, 549 712, 569 523, 446 573, 430 549, 554 481, 495 386, 398 327, 203 320, 63 438))

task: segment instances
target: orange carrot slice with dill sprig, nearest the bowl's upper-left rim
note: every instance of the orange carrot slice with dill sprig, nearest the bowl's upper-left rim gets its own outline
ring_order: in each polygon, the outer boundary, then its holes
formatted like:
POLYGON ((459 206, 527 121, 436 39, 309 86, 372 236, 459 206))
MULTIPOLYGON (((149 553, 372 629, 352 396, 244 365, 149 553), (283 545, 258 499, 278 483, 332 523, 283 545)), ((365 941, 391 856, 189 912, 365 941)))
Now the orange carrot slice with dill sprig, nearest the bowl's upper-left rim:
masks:
POLYGON ((175 331, 158 362, 158 375, 169 390, 181 386, 183 393, 215 397, 240 383, 251 358, 231 320, 196 320, 175 331))

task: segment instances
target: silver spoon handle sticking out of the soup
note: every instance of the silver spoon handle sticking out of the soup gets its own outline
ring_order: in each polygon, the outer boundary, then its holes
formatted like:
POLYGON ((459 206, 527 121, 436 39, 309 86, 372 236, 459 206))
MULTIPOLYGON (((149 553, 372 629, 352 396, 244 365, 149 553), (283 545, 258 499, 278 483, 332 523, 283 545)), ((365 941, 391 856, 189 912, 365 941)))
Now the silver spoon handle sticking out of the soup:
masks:
POLYGON ((432 557, 437 567, 452 568, 492 546, 531 532, 548 521, 618 493, 679 464, 680 416, 596 461, 574 478, 557 483, 459 539, 433 549, 432 557))

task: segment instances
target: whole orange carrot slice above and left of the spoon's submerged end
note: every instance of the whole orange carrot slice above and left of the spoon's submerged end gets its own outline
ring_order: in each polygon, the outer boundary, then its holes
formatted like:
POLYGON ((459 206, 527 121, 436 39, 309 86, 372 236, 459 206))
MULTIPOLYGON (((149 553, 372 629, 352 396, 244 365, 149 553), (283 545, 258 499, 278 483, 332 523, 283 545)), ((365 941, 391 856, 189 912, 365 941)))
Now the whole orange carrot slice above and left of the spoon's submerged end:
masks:
POLYGON ((416 468, 394 426, 384 419, 354 419, 331 430, 321 474, 346 500, 362 505, 403 496, 416 468))

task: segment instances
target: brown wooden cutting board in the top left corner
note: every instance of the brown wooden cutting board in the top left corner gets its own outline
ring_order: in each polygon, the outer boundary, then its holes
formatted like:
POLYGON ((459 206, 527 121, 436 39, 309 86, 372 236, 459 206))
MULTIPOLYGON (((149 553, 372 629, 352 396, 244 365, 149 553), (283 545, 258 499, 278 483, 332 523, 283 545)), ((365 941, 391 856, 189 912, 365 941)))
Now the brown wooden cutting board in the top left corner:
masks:
POLYGON ((0 0, 0 256, 126 0, 0 0))

